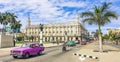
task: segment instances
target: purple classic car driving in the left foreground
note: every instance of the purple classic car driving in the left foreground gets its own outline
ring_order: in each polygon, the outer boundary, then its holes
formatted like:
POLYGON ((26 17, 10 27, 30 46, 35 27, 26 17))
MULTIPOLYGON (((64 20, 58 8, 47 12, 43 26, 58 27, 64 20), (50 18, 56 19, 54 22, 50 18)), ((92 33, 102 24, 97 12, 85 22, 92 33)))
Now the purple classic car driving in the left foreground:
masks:
POLYGON ((40 55, 44 51, 44 47, 38 43, 25 43, 20 48, 11 50, 13 58, 29 58, 30 55, 40 55))

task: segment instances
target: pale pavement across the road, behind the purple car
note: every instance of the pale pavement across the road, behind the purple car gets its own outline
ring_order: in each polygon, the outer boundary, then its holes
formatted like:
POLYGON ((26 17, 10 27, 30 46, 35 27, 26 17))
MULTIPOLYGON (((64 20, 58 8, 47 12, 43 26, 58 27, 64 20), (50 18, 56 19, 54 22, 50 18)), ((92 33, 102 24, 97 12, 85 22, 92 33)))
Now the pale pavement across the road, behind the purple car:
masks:
MULTIPOLYGON (((53 47, 53 46, 60 46, 60 45, 62 45, 62 44, 59 44, 59 45, 57 45, 57 44, 52 44, 52 43, 50 43, 50 44, 44 44, 44 46, 45 46, 46 48, 48 48, 48 47, 53 47)), ((13 48, 18 48, 18 47, 20 47, 20 46, 21 46, 21 44, 17 44, 16 47, 0 48, 0 57, 4 57, 4 56, 7 56, 7 55, 10 55, 10 50, 11 50, 11 49, 13 49, 13 48)))

